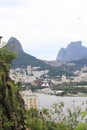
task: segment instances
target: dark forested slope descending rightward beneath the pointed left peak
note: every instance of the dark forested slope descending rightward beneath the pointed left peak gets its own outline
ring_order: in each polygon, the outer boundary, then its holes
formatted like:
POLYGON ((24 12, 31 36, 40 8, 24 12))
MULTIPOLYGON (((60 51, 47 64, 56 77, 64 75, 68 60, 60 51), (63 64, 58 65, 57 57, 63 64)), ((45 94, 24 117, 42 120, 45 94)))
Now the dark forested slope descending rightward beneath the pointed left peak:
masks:
POLYGON ((45 64, 43 61, 25 53, 21 52, 18 57, 13 61, 11 67, 12 68, 26 68, 28 65, 31 66, 40 66, 41 69, 45 70, 49 67, 49 65, 45 64))

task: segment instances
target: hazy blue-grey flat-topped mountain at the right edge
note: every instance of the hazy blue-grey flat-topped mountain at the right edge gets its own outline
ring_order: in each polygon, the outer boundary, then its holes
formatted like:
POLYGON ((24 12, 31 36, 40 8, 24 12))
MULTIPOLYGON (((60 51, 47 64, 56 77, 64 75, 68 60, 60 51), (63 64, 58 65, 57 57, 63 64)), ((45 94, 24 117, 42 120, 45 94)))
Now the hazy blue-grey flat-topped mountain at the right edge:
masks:
POLYGON ((57 60, 62 62, 69 62, 72 60, 79 60, 87 56, 87 48, 82 46, 81 41, 71 42, 67 48, 61 48, 57 60))

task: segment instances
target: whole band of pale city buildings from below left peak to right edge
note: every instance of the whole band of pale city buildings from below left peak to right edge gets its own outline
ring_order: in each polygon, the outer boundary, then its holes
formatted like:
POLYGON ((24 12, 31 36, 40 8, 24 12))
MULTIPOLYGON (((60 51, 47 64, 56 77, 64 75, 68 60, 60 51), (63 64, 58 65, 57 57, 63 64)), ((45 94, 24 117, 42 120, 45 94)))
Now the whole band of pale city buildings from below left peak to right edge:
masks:
POLYGON ((31 83, 32 85, 40 85, 49 87, 52 84, 62 84, 68 82, 81 82, 87 81, 87 67, 82 68, 80 71, 75 71, 74 77, 67 77, 66 75, 56 76, 50 78, 48 70, 40 70, 40 67, 27 66, 26 69, 16 68, 10 70, 10 77, 15 82, 31 83))

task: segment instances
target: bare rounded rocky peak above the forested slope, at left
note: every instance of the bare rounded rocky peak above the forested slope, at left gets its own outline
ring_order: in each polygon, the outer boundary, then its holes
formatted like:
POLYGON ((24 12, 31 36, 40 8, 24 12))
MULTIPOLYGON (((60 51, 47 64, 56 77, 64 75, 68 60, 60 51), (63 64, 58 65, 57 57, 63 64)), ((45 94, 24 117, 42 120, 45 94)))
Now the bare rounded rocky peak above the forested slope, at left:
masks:
POLYGON ((20 54, 21 52, 23 52, 21 43, 15 37, 11 37, 8 40, 7 45, 10 50, 14 50, 17 54, 20 54))

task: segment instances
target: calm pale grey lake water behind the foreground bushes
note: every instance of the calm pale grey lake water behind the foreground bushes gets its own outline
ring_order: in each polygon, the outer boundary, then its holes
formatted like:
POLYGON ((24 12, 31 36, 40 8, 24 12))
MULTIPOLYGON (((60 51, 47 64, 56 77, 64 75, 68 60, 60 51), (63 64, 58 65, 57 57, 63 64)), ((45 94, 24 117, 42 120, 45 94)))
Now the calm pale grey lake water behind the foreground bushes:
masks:
POLYGON ((39 109, 45 107, 50 108, 53 103, 58 103, 60 101, 64 102, 64 108, 72 108, 73 102, 76 106, 80 106, 81 108, 87 108, 87 97, 61 97, 54 95, 46 95, 46 94, 37 94, 39 99, 39 109), (85 104, 83 104, 83 102, 85 104))

